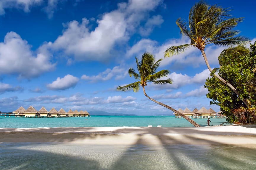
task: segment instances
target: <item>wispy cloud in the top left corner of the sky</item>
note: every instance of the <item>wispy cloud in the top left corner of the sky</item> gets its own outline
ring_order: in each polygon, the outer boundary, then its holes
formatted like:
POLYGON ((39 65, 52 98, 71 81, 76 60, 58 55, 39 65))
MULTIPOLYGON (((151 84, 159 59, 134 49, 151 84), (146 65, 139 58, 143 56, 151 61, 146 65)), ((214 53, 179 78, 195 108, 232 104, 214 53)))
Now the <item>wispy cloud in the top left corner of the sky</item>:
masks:
POLYGON ((4 9, 17 8, 24 12, 30 12, 30 7, 39 5, 43 0, 1 0, 0 1, 0 15, 5 14, 4 9))

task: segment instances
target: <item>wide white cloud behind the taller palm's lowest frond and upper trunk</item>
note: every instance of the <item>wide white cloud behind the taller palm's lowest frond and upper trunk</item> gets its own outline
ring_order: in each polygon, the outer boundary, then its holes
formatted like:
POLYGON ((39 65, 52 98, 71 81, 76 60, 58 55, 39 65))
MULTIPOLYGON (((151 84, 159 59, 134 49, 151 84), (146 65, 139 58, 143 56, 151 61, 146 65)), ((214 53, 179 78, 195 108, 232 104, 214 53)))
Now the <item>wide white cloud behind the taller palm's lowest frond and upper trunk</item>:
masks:
MULTIPOLYGON (((156 59, 164 58, 164 52, 170 46, 178 46, 182 44, 188 44, 190 40, 187 37, 181 37, 178 39, 170 39, 163 44, 158 44, 156 41, 150 39, 141 39, 136 42, 130 49, 126 52, 126 57, 131 56, 140 56, 145 51, 155 55, 156 59)), ((205 48, 205 53, 208 59, 208 62, 213 65, 218 65, 218 56, 225 47, 219 47, 214 45, 208 45, 205 48)), ((164 62, 162 61, 161 66, 169 65, 173 63, 175 67, 185 68, 187 66, 199 67, 205 65, 205 60, 202 57, 201 52, 194 47, 186 49, 184 53, 173 55, 170 58, 165 58, 164 62), (196 62, 195 62, 196 61, 196 62)), ((205 66, 205 68, 207 68, 205 66)))

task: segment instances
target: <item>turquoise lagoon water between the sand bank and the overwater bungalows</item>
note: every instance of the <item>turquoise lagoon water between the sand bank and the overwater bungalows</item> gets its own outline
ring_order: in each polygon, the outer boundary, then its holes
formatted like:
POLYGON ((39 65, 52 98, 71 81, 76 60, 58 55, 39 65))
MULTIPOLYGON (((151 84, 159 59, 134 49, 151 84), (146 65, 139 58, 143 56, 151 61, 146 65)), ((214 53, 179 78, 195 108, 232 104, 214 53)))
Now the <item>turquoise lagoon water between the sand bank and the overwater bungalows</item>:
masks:
MULTIPOLYGON (((207 119, 193 119, 200 126, 206 126, 207 119)), ((210 125, 220 125, 226 119, 211 118, 210 125)), ((115 127, 148 126, 192 127, 187 120, 174 116, 91 116, 62 118, 24 118, 0 116, 0 128, 41 128, 41 127, 115 127)))

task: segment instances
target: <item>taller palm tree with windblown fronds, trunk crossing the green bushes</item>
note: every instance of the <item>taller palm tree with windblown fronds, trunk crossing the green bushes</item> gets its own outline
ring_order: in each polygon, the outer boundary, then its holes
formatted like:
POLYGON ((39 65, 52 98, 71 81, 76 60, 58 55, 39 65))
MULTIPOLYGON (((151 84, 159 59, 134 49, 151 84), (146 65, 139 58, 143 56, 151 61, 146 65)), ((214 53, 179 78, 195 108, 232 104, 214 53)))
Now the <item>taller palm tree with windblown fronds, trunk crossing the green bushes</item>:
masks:
MULTIPOLYGON (((236 36, 239 31, 232 29, 239 22, 242 22, 243 18, 231 18, 231 15, 228 14, 229 11, 229 9, 223 9, 220 6, 209 6, 204 1, 196 3, 190 9, 188 25, 180 18, 176 20, 176 24, 181 30, 180 33, 189 37, 191 42, 189 44, 171 46, 165 51, 164 56, 170 57, 184 52, 189 47, 196 47, 201 51, 207 68, 212 72, 204 51, 206 45, 238 45, 249 41, 248 38, 236 36)), ((218 73, 215 73, 215 76, 239 96, 239 92, 228 81, 221 78, 218 73)), ((245 99, 243 99, 243 102, 247 107, 250 107, 245 99)))

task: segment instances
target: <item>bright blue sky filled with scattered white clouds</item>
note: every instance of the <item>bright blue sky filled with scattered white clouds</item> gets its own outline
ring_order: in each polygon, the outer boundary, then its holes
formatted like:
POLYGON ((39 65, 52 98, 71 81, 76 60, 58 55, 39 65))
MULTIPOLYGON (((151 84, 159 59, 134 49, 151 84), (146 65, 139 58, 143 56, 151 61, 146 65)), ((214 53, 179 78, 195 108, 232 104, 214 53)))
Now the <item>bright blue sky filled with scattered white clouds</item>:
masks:
MULTIPOLYGON (((179 34, 176 19, 187 21, 197 1, 184 0, 0 0, 0 111, 30 105, 37 110, 55 107, 138 115, 172 112, 147 99, 142 89, 116 91, 135 80, 135 56, 147 51, 163 58, 170 85, 146 86, 146 93, 175 109, 210 105, 203 88, 209 71, 200 51, 190 48, 164 58, 172 45, 189 40, 179 34)), ((256 40, 255 1, 208 0, 231 7, 233 17, 244 17, 240 35, 256 40)), ((218 67, 223 47, 207 46, 212 68, 218 67)))

